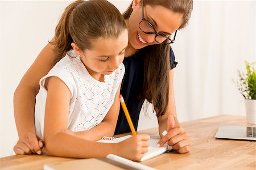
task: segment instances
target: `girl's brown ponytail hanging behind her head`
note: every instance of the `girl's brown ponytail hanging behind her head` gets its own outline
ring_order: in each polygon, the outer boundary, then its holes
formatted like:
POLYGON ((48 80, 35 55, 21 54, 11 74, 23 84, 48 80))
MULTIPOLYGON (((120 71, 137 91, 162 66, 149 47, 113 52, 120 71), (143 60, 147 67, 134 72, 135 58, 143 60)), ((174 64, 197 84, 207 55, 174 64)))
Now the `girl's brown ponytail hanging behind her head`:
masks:
POLYGON ((56 62, 59 61, 65 54, 72 49, 71 43, 73 42, 70 31, 69 31, 69 18, 72 11, 84 1, 75 1, 65 8, 65 11, 61 15, 59 23, 55 28, 54 40, 49 42, 55 45, 57 52, 56 62))

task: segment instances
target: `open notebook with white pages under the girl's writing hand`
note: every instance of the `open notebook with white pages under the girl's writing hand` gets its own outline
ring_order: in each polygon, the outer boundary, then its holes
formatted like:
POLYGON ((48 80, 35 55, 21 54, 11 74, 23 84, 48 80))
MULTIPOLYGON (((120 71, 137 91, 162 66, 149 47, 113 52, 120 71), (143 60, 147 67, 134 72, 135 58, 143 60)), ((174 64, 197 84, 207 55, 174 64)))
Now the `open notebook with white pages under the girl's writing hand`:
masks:
MULTIPOLYGON (((101 140, 97 142, 102 142, 102 143, 118 143, 121 142, 127 138, 130 138, 131 135, 126 135, 121 138, 114 138, 114 137, 103 137, 101 140)), ((148 146, 148 152, 139 160, 139 161, 144 161, 150 158, 153 158, 155 156, 164 154, 172 149, 172 147, 168 146, 167 144, 163 145, 162 147, 155 147, 156 143, 158 143, 159 139, 153 139, 150 138, 148 140, 150 146, 148 146)))

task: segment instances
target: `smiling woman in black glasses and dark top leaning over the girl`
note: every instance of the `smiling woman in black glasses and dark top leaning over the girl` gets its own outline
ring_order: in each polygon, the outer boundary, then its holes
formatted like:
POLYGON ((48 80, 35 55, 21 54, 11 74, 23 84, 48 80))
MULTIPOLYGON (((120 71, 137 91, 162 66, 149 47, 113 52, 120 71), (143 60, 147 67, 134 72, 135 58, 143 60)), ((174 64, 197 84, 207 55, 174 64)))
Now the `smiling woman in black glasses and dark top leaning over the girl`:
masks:
MULTIPOLYGON (((191 149, 191 143, 176 118, 173 68, 177 63, 170 44, 175 40, 176 31, 188 24, 192 7, 192 0, 134 0, 123 14, 129 29, 129 44, 123 61, 126 73, 121 94, 135 129, 143 101, 147 99, 154 104, 158 117, 159 135, 162 137, 159 146, 168 142, 181 154, 191 149), (166 135, 162 134, 164 130, 168 131, 166 135)), ((55 35, 51 42, 56 38, 55 35)), ((36 137, 34 125, 38 82, 64 53, 57 51, 53 44, 47 44, 16 88, 14 113, 19 134, 19 141, 14 147, 16 154, 41 153, 43 141, 36 137)), ((115 134, 127 131, 130 131, 129 125, 121 111, 115 134)))

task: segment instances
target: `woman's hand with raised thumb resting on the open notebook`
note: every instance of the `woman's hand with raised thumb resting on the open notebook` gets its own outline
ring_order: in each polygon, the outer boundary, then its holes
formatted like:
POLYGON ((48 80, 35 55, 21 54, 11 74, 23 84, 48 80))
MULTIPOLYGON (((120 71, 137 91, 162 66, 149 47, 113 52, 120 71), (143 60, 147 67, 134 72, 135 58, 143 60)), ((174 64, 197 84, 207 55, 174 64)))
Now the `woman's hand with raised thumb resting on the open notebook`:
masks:
POLYGON ((174 117, 169 115, 167 120, 168 133, 158 143, 160 146, 163 146, 164 143, 168 142, 168 145, 172 146, 173 150, 178 151, 180 154, 185 154, 191 150, 188 133, 181 126, 175 127, 174 124, 174 117))

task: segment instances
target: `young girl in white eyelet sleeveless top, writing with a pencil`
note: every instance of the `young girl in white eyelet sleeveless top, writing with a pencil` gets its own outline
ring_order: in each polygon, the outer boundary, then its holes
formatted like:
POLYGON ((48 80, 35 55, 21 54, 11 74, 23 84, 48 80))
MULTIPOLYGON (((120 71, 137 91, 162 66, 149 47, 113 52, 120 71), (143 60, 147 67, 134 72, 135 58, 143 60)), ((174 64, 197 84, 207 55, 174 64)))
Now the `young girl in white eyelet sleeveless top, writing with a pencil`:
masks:
POLYGON ((149 135, 118 144, 94 142, 114 134, 119 113, 128 42, 122 15, 105 0, 76 1, 65 9, 56 35, 51 44, 67 54, 40 79, 35 106, 36 135, 44 140, 46 153, 140 159, 149 135))

